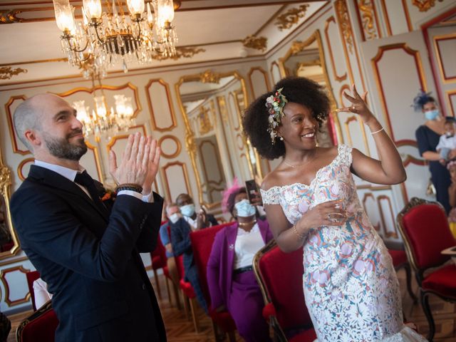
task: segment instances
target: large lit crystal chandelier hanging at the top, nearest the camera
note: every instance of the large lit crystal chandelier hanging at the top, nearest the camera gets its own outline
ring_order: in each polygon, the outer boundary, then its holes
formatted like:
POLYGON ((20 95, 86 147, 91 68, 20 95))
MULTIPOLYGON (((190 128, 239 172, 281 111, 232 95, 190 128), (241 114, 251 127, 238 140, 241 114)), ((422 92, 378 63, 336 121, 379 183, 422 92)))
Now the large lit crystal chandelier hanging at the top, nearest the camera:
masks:
POLYGON ((88 58, 93 58, 104 77, 108 68, 118 63, 122 63, 126 73, 130 63, 144 64, 157 57, 175 56, 177 35, 171 24, 172 0, 151 0, 147 6, 144 0, 127 0, 130 15, 125 14, 120 0, 117 6, 116 0, 112 6, 108 1, 106 4, 108 11, 103 12, 100 0, 83 0, 83 20, 76 21, 69 0, 53 0, 68 63, 81 68, 88 58))

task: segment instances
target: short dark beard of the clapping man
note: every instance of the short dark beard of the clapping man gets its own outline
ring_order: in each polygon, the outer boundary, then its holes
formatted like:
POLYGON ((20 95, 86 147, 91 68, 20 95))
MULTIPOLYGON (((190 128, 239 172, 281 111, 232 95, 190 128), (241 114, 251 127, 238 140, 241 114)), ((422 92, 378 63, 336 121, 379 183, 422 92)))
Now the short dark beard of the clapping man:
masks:
POLYGON ((84 138, 78 140, 78 144, 72 144, 68 139, 74 135, 81 134, 82 130, 75 130, 73 133, 66 135, 66 138, 54 138, 48 133, 43 134, 44 142, 48 147, 49 152, 54 157, 67 160, 80 160, 81 157, 87 152, 86 142, 84 138))

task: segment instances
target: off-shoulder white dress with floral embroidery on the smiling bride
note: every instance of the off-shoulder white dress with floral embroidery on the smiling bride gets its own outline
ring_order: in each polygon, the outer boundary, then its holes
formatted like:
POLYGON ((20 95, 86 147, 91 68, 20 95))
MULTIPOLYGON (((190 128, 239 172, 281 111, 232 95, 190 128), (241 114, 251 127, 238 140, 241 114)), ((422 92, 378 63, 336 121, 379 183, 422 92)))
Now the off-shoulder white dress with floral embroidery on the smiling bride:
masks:
POLYGON ((261 190, 294 224, 317 204, 343 199, 343 226, 311 229, 304 244, 304 296, 318 341, 426 341, 403 325, 391 257, 364 212, 351 175, 351 147, 322 167, 310 185, 261 190))

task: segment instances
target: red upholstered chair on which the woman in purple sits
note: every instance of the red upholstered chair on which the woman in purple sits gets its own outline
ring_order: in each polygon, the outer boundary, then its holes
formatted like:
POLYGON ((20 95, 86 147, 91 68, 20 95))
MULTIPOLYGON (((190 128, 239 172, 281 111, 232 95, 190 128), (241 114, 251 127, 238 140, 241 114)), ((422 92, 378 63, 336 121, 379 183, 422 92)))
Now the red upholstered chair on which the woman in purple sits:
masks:
POLYGON ((236 324, 228 311, 217 312, 210 309, 211 297, 209 295, 209 288, 207 286, 207 261, 211 254, 212 244, 214 237, 220 229, 229 226, 232 222, 219 224, 214 227, 200 229, 190 233, 190 240, 192 241, 193 258, 198 268, 199 284, 201 285, 204 298, 206 299, 207 307, 209 308, 209 315, 212 318, 212 328, 214 329, 215 341, 219 340, 217 327, 223 333, 227 333, 229 341, 236 341, 234 331, 236 324))

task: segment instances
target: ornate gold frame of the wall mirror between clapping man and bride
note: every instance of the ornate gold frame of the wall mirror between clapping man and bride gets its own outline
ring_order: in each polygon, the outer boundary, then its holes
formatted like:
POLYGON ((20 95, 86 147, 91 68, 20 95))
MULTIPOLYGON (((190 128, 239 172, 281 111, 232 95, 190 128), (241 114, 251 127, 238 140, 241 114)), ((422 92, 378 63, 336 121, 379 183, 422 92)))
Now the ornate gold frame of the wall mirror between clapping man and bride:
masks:
MULTIPOLYGON (((185 112, 184 105, 182 104, 182 98, 180 95, 180 86, 182 86, 182 83, 184 83, 184 82, 198 82, 199 81, 202 83, 218 83, 218 80, 220 78, 224 78, 224 77, 228 77, 228 76, 234 76, 234 78, 236 78, 241 83, 242 93, 244 95, 244 102, 245 102, 245 106, 247 108, 249 105, 249 98, 247 97, 247 87, 245 86, 244 78, 242 78, 242 76, 240 76, 237 71, 229 71, 226 73, 215 73, 213 71, 207 70, 202 73, 182 76, 179 79, 179 81, 177 81, 177 83, 175 83, 177 103, 179 103, 180 113, 182 113, 182 118, 184 118, 184 123, 185 123, 185 149, 187 150, 187 152, 190 155, 190 160, 192 161, 193 172, 195 173, 195 178, 197 181, 198 202, 199 202, 199 205, 205 205, 209 209, 219 207, 221 202, 207 203, 203 199, 201 178, 199 177, 199 171, 197 168, 197 147, 195 145, 195 133, 193 133, 193 131, 192 131, 190 122, 187 118, 187 113, 185 112)), ((242 127, 242 114, 239 113, 238 110, 236 110, 236 112, 237 112, 237 119, 239 120, 239 126, 241 129, 241 132, 243 132, 244 128, 242 127)), ((248 150, 249 147, 247 146, 247 137, 244 134, 242 134, 242 141, 244 142, 244 148, 247 151, 246 157, 247 157, 247 162, 249 164, 248 165, 249 172, 253 178, 254 169, 252 166, 252 160, 250 160, 250 155, 249 155, 249 150, 248 150)))

